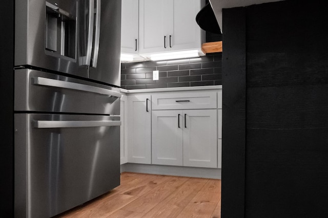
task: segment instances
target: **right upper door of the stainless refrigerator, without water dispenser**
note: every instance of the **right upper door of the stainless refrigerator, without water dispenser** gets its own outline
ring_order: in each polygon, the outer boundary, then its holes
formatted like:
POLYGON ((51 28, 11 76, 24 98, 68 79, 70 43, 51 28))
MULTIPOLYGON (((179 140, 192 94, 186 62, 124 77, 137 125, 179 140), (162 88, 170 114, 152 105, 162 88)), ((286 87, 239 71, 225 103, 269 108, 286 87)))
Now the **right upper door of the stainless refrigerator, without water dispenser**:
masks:
MULTIPOLYGON (((100 3, 101 8, 100 37, 98 57, 92 56, 92 60, 97 59, 97 61, 91 61, 89 78, 120 86, 121 0, 96 0, 95 2, 96 5, 97 2, 100 3)), ((97 28, 95 28, 95 33, 96 31, 97 28)), ((95 34, 95 42, 96 40, 95 34)), ((94 44, 97 50, 97 43, 94 44)))

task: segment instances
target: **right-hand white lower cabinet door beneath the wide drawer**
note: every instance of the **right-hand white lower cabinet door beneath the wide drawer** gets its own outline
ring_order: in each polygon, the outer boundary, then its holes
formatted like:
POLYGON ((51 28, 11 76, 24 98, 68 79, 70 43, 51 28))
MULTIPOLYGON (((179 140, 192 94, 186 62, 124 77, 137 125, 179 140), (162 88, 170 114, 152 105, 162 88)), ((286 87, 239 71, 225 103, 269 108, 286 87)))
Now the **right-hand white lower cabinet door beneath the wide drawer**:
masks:
POLYGON ((217 111, 183 111, 183 166, 217 167, 217 111))

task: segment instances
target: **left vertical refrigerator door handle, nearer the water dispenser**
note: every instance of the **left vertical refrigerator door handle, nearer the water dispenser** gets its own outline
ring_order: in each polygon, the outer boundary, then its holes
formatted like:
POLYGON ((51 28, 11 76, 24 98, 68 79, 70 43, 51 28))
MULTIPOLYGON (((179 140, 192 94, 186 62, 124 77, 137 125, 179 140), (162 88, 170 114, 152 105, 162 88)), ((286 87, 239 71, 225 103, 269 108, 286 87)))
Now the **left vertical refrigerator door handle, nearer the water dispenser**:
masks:
POLYGON ((92 41, 93 41, 93 20, 94 20, 94 0, 89 0, 89 25, 88 25, 88 44, 87 44, 87 56, 84 58, 83 65, 90 66, 91 53, 92 53, 92 41))

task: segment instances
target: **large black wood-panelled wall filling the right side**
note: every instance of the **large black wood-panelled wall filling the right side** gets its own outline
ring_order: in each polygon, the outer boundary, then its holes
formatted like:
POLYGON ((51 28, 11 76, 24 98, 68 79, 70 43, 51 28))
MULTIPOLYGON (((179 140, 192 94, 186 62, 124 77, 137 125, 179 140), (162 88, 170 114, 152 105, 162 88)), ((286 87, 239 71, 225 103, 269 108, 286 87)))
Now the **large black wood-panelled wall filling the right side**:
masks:
POLYGON ((223 10, 222 217, 328 217, 325 5, 291 0, 223 10), (229 17, 244 28, 226 32, 235 23, 229 17))

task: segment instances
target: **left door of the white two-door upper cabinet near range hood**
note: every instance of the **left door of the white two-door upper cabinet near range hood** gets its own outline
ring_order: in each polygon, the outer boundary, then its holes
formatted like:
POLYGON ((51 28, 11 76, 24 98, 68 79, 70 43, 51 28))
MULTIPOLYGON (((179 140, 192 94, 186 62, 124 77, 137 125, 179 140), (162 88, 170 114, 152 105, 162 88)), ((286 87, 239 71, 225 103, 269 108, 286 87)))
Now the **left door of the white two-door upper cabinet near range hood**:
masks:
POLYGON ((139 53, 167 51, 168 0, 140 0, 139 4, 139 53))

